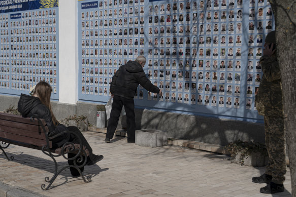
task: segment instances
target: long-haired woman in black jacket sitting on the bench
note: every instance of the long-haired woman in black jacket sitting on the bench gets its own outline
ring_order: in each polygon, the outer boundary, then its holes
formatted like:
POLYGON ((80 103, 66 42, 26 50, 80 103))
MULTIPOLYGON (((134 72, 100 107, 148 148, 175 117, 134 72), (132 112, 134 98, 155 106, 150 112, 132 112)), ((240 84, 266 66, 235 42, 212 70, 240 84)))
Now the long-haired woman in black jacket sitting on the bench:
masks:
MULTIPOLYGON (((94 165, 96 162, 101 161, 103 159, 103 155, 95 155, 92 153, 90 145, 77 127, 65 127, 64 125, 59 124, 59 122, 55 119, 50 104, 51 92, 52 88, 48 83, 43 81, 39 82, 36 85, 35 90, 32 91, 32 96, 21 94, 18 102, 18 111, 23 117, 30 117, 31 114, 34 114, 40 119, 44 119, 49 129, 49 137, 52 137, 63 131, 72 131, 77 134, 77 136, 80 137, 83 146, 85 146, 89 151, 89 156, 87 157, 86 162, 88 166, 94 165)), ((65 133, 52 139, 54 148, 61 147, 65 142, 79 143, 79 139, 76 137, 76 135, 71 133, 65 133)), ((76 154, 74 153, 68 153, 68 158, 74 157, 75 155, 76 154)), ((80 162, 78 165, 83 163, 84 161, 80 162)), ((68 160, 68 164, 74 165, 74 161, 68 160)), ((80 168, 80 170, 83 172, 84 167, 80 168)), ((70 171, 73 176, 79 176, 79 172, 75 168, 70 168, 70 171)))

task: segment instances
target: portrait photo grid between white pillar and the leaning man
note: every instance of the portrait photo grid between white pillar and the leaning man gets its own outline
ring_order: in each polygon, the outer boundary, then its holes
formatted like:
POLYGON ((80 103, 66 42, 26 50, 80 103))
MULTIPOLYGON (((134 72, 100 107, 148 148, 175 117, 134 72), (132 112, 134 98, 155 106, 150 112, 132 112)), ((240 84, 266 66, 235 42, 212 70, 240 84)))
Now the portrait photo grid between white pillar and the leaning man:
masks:
POLYGON ((109 95, 112 76, 144 55, 144 1, 108 0, 81 9, 81 93, 109 95))

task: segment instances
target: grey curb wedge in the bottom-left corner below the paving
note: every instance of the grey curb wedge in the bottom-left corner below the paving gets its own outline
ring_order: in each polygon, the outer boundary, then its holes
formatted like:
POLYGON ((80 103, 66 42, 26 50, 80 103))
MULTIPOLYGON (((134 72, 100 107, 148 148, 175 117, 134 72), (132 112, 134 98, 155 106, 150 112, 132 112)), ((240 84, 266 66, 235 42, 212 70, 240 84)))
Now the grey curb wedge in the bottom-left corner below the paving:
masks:
POLYGON ((27 189, 14 187, 6 183, 0 182, 0 196, 2 197, 47 197, 27 189))

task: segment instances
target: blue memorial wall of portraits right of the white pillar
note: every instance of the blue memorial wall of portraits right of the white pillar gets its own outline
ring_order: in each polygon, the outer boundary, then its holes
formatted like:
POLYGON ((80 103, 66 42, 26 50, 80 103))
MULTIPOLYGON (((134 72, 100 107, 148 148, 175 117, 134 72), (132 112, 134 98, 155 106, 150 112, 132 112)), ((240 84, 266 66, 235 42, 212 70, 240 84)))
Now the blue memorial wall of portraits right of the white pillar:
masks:
POLYGON ((144 55, 141 108, 260 121, 259 59, 274 28, 269 1, 78 1, 78 99, 107 102, 113 74, 144 55))

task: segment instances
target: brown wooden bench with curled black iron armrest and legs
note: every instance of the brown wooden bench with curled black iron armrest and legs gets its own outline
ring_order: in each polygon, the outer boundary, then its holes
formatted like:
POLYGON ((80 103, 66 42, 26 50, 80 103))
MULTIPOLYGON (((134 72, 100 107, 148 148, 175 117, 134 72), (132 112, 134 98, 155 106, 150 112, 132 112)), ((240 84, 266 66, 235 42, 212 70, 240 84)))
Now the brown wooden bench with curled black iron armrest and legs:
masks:
POLYGON ((86 165, 87 156, 89 152, 82 146, 82 141, 74 132, 64 131, 55 136, 48 136, 48 127, 46 122, 38 117, 21 117, 20 115, 13 115, 9 113, 0 113, 0 149, 5 154, 7 160, 12 161, 13 156, 8 157, 4 151, 10 144, 23 146, 27 148, 34 148, 42 150, 43 153, 50 156, 55 164, 55 171, 51 178, 45 177, 45 181, 48 182, 48 186, 45 184, 41 185, 43 190, 50 188, 56 177, 65 169, 70 167, 75 168, 84 182, 90 182, 90 176, 84 177, 81 170, 86 165), (53 148, 52 139, 63 135, 64 133, 71 133, 77 136, 80 143, 73 144, 66 142, 62 147, 53 148), (74 153, 74 157, 68 158, 67 153, 74 153), (57 162, 55 157, 62 156, 64 159, 73 161, 74 165, 63 166, 58 170, 57 162), (82 163, 82 164, 81 164, 82 163))

